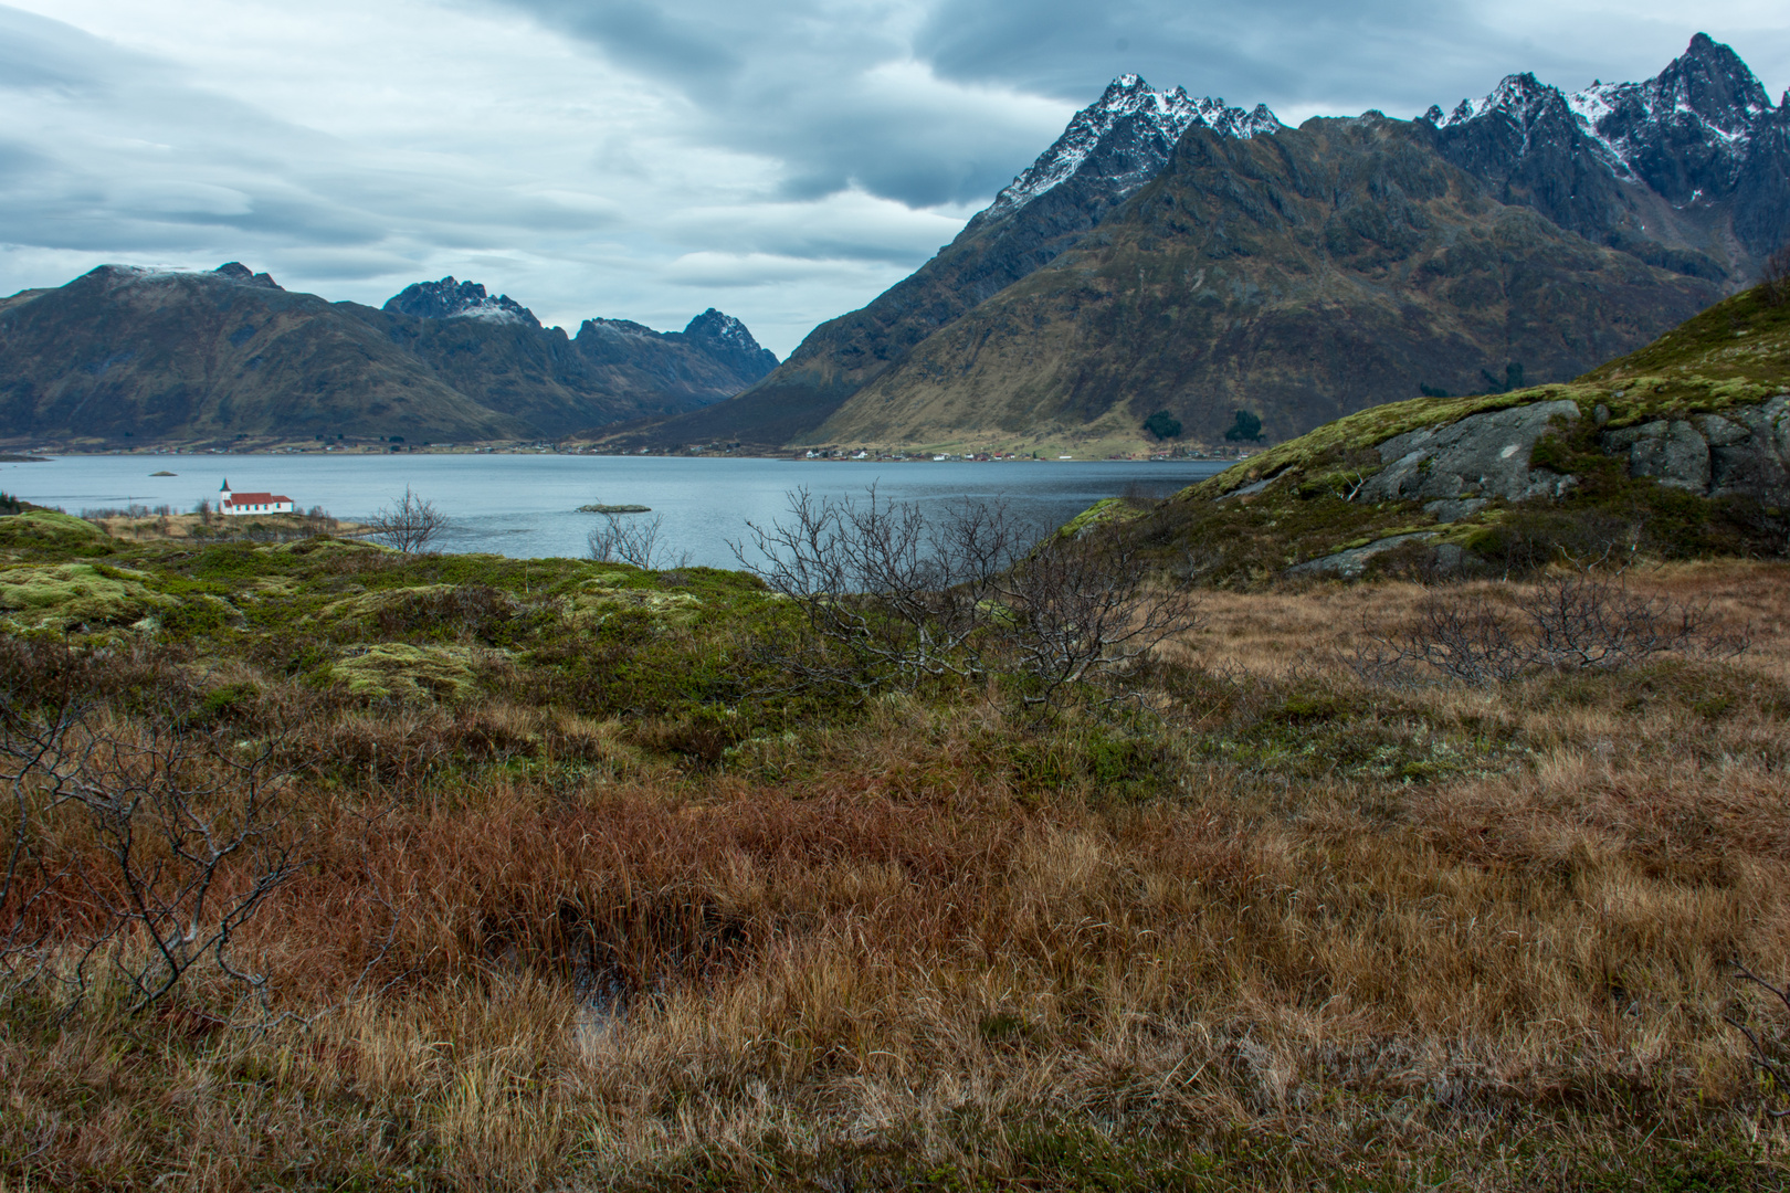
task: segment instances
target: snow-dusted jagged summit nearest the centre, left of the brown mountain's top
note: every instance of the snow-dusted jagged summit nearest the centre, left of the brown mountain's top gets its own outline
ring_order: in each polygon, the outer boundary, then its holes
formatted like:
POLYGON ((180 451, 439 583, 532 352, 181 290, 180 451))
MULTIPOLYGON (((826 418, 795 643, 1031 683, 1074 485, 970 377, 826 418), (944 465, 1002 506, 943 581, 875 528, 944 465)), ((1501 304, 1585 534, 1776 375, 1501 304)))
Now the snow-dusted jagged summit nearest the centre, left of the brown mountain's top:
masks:
POLYGON ((1133 118, 1142 129, 1129 161, 1121 173, 1112 175, 1119 197, 1124 197, 1153 179, 1167 163, 1169 150, 1192 125, 1206 125, 1221 136, 1253 138, 1274 132, 1283 125, 1266 104, 1255 111, 1226 107, 1223 98, 1194 98, 1183 88, 1156 91, 1138 75, 1119 75, 1094 104, 1083 107, 1024 173, 995 195, 984 211, 999 218, 1019 211, 1038 195, 1061 186, 1081 170, 1113 129, 1133 118))

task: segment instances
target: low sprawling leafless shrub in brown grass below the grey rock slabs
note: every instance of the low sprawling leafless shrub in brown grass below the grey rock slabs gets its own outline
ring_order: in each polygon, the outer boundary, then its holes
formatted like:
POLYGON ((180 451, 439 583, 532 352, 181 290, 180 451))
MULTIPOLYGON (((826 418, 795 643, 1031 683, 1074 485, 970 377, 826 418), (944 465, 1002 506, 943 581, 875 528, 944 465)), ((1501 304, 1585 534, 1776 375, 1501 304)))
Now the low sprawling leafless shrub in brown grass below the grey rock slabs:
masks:
POLYGON ((1550 572, 1507 596, 1504 603, 1484 590, 1446 590, 1427 597, 1396 635, 1364 628, 1355 671, 1377 681, 1441 674, 1489 687, 1539 671, 1615 671, 1663 653, 1729 658, 1747 649, 1708 603, 1645 597, 1620 576, 1550 572))

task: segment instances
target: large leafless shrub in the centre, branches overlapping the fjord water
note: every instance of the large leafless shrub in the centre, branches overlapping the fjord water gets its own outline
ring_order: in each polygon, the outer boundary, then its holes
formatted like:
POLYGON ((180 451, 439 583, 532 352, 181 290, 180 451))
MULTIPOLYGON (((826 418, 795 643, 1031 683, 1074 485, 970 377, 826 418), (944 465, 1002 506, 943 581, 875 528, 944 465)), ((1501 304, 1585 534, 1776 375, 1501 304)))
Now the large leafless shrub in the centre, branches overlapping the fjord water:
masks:
POLYGON ((938 517, 913 503, 789 495, 789 522, 748 524, 734 554, 802 608, 809 640, 779 651, 798 681, 868 692, 924 680, 1017 680, 1026 705, 1112 678, 1194 624, 1183 590, 1146 580, 1128 538, 1047 537, 1004 504, 938 517), (1029 547, 1029 549, 1027 549, 1029 547))

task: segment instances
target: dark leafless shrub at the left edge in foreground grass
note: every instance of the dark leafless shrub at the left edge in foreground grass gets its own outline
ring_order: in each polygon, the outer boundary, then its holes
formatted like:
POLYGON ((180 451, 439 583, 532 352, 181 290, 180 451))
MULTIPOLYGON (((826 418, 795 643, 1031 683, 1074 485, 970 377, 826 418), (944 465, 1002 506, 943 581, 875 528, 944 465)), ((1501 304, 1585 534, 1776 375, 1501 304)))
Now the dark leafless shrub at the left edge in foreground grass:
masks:
POLYGON ((136 1012, 209 962, 265 1000, 267 978, 233 944, 297 871, 272 757, 177 721, 124 726, 73 698, 13 708, 0 735, 13 991, 50 982, 79 1000, 102 969, 136 1012))

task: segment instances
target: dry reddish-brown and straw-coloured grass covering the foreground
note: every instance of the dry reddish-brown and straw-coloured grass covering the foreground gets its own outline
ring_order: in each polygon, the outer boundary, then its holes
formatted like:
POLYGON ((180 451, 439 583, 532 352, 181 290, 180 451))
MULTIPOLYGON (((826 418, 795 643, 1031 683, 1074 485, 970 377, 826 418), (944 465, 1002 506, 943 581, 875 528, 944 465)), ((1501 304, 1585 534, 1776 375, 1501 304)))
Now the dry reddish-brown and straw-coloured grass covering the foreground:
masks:
MULTIPOLYGON (((217 977, 149 1021, 14 1016, 0 1159, 204 1189, 1777 1188, 1722 1016, 1733 957, 1790 975, 1783 581, 1634 578, 1749 622, 1736 664, 1373 714, 1520 748, 1439 782, 1212 760, 1185 699, 1144 800, 1038 783, 1027 751, 1067 746, 986 705, 698 776, 562 714, 329 714, 308 740, 351 766, 297 785, 313 864, 249 941, 313 1018, 229 1030, 217 977), (614 762, 507 764, 553 733, 614 762), (426 780, 448 739, 496 769, 426 780)), ((1214 594, 1185 649, 1360 705, 1350 635, 1421 596, 1214 594)))

